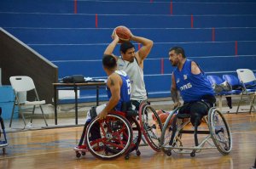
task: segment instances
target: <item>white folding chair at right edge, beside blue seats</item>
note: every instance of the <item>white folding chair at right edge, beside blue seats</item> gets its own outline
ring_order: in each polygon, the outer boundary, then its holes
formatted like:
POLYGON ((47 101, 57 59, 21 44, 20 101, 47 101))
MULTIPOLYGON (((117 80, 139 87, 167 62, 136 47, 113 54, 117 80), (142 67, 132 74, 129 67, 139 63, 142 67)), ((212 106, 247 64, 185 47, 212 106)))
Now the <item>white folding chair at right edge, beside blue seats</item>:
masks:
POLYGON ((242 86, 242 92, 241 92, 241 97, 238 102, 237 110, 236 113, 239 110, 240 104, 241 104, 241 98, 243 95, 247 95, 248 100, 250 101, 250 113, 252 112, 252 109, 255 110, 253 106, 253 102, 255 100, 256 96, 256 77, 253 74, 252 70, 248 69, 238 69, 236 70, 237 76, 241 82, 242 86))

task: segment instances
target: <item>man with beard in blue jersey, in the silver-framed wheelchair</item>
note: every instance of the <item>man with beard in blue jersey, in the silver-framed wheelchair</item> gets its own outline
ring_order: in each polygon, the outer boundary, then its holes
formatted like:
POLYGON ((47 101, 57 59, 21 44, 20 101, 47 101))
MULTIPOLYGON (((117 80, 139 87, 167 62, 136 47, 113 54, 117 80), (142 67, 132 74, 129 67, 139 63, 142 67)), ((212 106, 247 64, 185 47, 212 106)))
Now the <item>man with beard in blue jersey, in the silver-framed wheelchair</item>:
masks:
POLYGON ((179 93, 183 99, 183 106, 179 113, 190 114, 190 121, 195 126, 201 123, 203 115, 215 104, 216 99, 211 83, 201 68, 192 60, 186 59, 181 47, 169 50, 169 60, 175 70, 172 72, 171 95, 174 106, 179 103, 179 93))

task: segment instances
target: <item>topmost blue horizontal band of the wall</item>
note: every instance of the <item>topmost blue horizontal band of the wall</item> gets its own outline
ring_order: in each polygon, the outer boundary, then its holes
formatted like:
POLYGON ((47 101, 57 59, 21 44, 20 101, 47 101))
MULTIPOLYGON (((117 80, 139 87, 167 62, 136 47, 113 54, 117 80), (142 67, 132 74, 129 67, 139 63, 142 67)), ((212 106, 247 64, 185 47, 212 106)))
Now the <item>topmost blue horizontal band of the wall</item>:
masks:
MULTIPOLYGON (((86 14, 170 14, 170 1, 78 1, 78 13, 86 14), (136 8, 135 8, 136 7, 136 8)), ((173 14, 256 14, 254 1, 173 1, 173 14), (190 3, 189 3, 190 2, 190 3), (240 2, 240 3, 236 3, 240 2), (253 3, 246 3, 253 2, 253 3)), ((53 0, 5 0, 1 11, 73 13, 73 1, 53 0)))

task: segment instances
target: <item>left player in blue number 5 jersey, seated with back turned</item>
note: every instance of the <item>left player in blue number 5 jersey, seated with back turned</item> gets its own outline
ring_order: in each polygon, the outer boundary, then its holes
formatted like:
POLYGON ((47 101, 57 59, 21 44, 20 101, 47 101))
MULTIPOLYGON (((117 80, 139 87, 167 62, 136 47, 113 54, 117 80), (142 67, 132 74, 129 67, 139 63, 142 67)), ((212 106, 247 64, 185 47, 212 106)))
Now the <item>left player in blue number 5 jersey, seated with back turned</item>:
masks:
MULTIPOLYGON (((74 148, 74 150, 84 150, 86 149, 83 144, 84 141, 84 132, 86 131, 86 127, 90 123, 91 119, 96 116, 100 119, 104 119, 108 112, 113 110, 126 111, 125 109, 129 109, 130 104, 130 95, 131 95, 131 82, 129 76, 123 70, 117 70, 117 60, 113 57, 113 55, 104 55, 102 59, 103 69, 106 71, 108 75, 107 81, 107 93, 108 93, 108 103, 102 104, 97 107, 92 107, 91 110, 88 111, 84 131, 82 133, 82 137, 80 139, 79 145, 74 148)), ((100 138, 100 127, 95 124, 94 127, 91 128, 91 132, 93 132, 92 140, 96 138, 100 138)))

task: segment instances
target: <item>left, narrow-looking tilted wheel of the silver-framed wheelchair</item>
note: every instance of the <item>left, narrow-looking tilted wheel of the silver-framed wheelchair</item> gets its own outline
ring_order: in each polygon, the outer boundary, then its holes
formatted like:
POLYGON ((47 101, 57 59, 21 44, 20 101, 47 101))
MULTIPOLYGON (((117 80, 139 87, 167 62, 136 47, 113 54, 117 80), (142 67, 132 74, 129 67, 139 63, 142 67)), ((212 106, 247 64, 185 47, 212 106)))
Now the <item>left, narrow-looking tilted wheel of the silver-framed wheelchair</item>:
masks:
POLYGON ((169 146, 171 137, 172 137, 172 126, 170 125, 170 121, 172 120, 173 115, 177 112, 177 109, 172 110, 168 115, 166 122, 164 124, 161 137, 160 137, 160 146, 161 149, 165 152, 165 147, 169 146))

